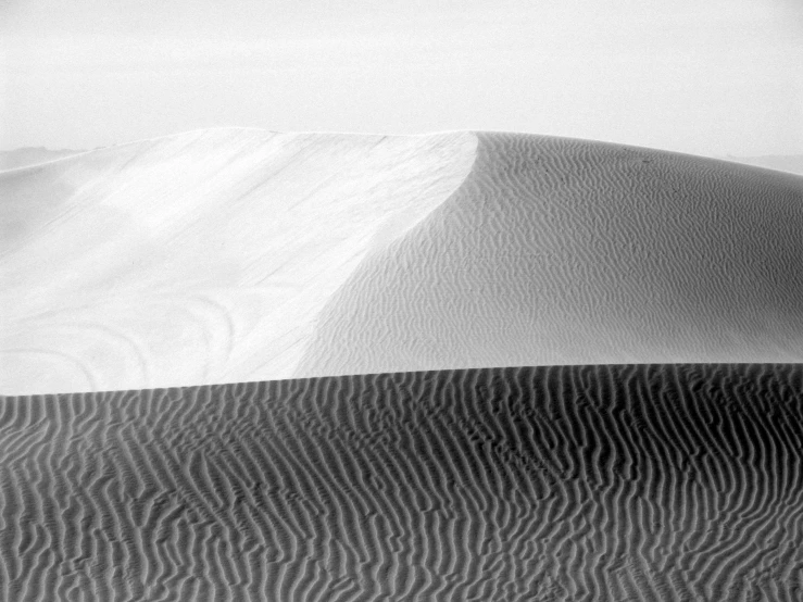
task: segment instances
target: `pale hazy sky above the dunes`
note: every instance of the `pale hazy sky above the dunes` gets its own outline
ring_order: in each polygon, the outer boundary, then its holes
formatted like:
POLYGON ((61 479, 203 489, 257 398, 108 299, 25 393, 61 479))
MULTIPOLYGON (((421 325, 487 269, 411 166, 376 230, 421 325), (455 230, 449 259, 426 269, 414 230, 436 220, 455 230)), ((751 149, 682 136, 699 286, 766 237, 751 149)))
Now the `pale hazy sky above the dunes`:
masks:
POLYGON ((0 148, 210 126, 803 153, 801 0, 0 0, 0 148))

